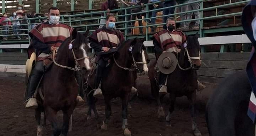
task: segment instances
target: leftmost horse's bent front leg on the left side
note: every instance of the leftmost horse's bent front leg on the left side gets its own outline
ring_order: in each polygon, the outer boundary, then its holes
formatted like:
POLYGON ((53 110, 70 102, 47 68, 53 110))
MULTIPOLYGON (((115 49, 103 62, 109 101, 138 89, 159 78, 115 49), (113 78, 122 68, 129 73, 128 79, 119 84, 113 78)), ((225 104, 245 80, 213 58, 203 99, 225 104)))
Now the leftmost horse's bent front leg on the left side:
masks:
POLYGON ((57 124, 57 116, 56 116, 57 112, 54 111, 54 109, 52 109, 51 107, 46 107, 45 114, 46 114, 47 119, 52 124, 52 128, 53 128, 52 136, 59 136, 61 133, 61 129, 58 128, 58 124, 57 124))

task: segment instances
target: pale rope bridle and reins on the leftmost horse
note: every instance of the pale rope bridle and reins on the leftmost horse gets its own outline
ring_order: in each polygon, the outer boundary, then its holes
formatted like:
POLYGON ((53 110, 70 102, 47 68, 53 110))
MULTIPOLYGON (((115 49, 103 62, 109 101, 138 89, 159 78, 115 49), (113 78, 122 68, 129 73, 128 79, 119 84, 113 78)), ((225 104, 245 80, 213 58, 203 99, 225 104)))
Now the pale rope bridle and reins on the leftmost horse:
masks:
MULTIPOLYGON (((71 38, 72 39, 72 38, 71 38)), ((68 67, 68 66, 63 66, 63 65, 60 65, 60 64, 58 64, 56 61, 55 61, 55 55, 56 55, 56 50, 54 50, 53 51, 53 62, 54 62, 54 64, 55 65, 57 65, 57 66, 59 66, 59 67, 61 67, 61 68, 67 68, 67 69, 70 69, 70 70, 74 70, 74 71, 79 71, 80 70, 80 65, 79 65, 79 63, 78 63, 78 61, 80 61, 80 60, 83 60, 83 59, 85 59, 85 58, 89 58, 89 57, 81 57, 81 58, 76 58, 76 56, 75 56, 75 53, 74 53, 74 50, 73 50, 73 48, 72 48, 72 44, 73 44, 73 41, 74 41, 75 39, 73 39, 73 40, 70 40, 70 43, 69 43, 69 46, 71 45, 71 50, 72 50, 72 54, 73 54, 73 56, 74 56, 74 59, 75 59, 75 68, 72 68, 72 67, 68 67)))

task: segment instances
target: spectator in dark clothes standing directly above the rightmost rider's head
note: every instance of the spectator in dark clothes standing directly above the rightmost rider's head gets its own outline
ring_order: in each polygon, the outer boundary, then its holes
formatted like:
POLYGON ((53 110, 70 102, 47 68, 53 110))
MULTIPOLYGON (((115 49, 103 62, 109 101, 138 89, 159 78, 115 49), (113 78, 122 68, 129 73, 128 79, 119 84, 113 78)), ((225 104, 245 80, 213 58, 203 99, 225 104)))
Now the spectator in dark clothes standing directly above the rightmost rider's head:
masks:
MULTIPOLYGON (((165 0, 161 0, 161 1, 165 1, 165 0)), ((174 6, 176 5, 176 1, 175 0, 170 0, 170 1, 165 1, 163 3, 163 7, 169 7, 169 6, 174 6)), ((163 10, 163 15, 170 15, 170 14, 174 14, 174 10, 175 10, 175 7, 172 7, 172 8, 166 8, 163 10)), ((163 17, 163 23, 166 23, 166 20, 167 18, 169 17, 173 17, 173 16, 166 16, 166 17, 163 17)), ((163 29, 167 29, 166 25, 163 25, 163 29)))

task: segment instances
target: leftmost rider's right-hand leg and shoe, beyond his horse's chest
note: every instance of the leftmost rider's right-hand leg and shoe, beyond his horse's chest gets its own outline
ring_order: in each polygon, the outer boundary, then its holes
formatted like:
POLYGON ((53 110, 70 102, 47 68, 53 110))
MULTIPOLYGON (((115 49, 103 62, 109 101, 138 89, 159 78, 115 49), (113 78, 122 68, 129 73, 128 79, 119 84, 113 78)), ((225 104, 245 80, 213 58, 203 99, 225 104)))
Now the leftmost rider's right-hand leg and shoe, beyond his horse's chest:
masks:
POLYGON ((84 100, 83 100, 83 97, 84 97, 84 87, 83 87, 83 79, 82 79, 82 73, 81 71, 76 71, 75 72, 75 79, 77 81, 77 84, 78 84, 78 95, 76 97, 76 100, 77 100, 77 104, 76 106, 80 106, 80 105, 83 105, 84 104, 84 100))

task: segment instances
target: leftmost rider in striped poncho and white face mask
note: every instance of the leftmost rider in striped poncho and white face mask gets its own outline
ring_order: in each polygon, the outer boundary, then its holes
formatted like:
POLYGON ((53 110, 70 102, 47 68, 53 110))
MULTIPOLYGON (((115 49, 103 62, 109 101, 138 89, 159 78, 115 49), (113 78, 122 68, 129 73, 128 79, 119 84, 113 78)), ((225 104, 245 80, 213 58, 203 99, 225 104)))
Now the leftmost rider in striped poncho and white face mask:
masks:
MULTIPOLYGON (((45 60, 51 60, 50 53, 56 50, 61 43, 72 34, 73 28, 67 24, 59 23, 59 16, 60 12, 57 7, 49 8, 49 20, 38 24, 29 32, 29 36, 31 37, 32 41, 30 42, 28 48, 28 56, 30 58, 32 52, 36 50, 37 62, 35 63, 35 66, 30 74, 26 88, 26 108, 38 107, 37 100, 33 98, 33 95, 43 73, 45 72, 45 60)), ((80 95, 83 96, 83 83, 81 76, 81 73, 77 71, 75 78, 79 84, 78 91, 80 95)), ((77 96, 77 106, 84 104, 81 96, 77 96)))

